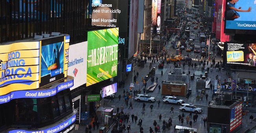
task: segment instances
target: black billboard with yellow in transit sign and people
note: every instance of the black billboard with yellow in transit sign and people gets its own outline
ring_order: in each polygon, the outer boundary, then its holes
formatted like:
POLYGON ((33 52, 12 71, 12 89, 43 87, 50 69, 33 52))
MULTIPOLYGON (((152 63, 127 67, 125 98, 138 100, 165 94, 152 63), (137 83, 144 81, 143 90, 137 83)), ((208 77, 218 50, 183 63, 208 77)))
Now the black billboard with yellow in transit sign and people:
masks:
POLYGON ((256 66, 256 43, 226 42, 224 53, 224 63, 256 66))

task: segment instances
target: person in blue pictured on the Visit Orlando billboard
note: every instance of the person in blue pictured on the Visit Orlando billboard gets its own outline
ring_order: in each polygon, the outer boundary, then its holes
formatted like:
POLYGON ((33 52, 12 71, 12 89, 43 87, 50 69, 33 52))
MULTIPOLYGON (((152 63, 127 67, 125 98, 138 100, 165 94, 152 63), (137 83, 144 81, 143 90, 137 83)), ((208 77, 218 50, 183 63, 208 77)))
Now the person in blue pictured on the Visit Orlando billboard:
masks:
POLYGON ((236 2, 238 0, 231 0, 227 4, 227 20, 235 20, 236 18, 239 18, 240 15, 238 12, 250 12, 252 10, 252 7, 249 7, 247 10, 242 10, 241 7, 238 9, 235 7, 236 2))

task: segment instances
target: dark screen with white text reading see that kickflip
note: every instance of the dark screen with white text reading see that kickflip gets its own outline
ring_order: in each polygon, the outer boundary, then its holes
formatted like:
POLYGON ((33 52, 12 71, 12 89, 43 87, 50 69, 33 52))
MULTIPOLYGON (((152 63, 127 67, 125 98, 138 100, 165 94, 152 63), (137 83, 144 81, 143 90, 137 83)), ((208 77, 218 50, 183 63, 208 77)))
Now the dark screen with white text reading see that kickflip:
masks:
POLYGON ((119 0, 92 0, 92 26, 118 27, 119 0))

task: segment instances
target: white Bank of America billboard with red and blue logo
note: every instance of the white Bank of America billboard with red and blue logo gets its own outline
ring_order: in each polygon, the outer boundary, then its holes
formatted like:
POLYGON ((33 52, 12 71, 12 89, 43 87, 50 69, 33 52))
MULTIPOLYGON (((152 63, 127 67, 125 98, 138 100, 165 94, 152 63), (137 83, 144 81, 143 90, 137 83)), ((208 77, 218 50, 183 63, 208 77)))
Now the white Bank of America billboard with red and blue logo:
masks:
POLYGON ((68 75, 74 77, 73 90, 86 83, 87 73, 87 41, 69 46, 68 75))

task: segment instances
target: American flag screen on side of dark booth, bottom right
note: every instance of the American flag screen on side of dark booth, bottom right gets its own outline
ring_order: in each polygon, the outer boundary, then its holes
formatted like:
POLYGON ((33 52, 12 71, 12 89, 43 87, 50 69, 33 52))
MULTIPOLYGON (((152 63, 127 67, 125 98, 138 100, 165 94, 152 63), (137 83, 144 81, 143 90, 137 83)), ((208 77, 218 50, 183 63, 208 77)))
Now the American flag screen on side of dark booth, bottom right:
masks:
POLYGON ((242 102, 230 111, 230 132, 242 124, 242 102))

